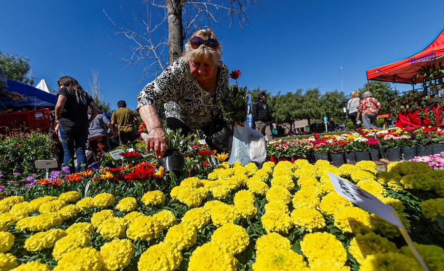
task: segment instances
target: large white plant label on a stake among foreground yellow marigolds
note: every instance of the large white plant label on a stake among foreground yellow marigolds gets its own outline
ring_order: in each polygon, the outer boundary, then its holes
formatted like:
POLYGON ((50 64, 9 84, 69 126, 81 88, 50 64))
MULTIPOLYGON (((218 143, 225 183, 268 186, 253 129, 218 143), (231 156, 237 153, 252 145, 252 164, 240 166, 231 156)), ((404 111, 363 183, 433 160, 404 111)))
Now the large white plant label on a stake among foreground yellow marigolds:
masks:
POLYGON ((413 241, 408 235, 406 227, 404 226, 403 222, 398 216, 398 213, 392 206, 382 203, 375 196, 371 195, 369 192, 361 189, 355 184, 347 181, 346 179, 343 179, 333 174, 332 172, 328 172, 328 174, 330 177, 330 181, 333 184, 334 190, 336 190, 337 194, 397 226, 401 231, 404 239, 406 240, 408 247, 413 252, 413 255, 415 255, 416 260, 418 260, 418 263, 425 271, 429 271, 421 256, 419 255, 418 250, 413 244, 413 241))

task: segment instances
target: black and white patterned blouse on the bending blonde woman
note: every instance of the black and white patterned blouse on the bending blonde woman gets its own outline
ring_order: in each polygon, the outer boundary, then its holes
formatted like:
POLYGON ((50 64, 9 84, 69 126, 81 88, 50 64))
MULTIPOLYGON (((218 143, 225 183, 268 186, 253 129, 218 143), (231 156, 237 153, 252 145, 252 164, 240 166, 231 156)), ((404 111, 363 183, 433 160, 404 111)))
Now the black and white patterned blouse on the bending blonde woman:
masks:
POLYGON ((189 64, 182 58, 166 68, 154 81, 145 86, 137 96, 137 109, 150 104, 165 106, 165 116, 182 120, 191 129, 200 129, 210 123, 211 109, 215 115, 221 114, 221 104, 228 90, 228 68, 225 64, 218 68, 216 88, 217 104, 214 96, 206 92, 191 74, 189 64))

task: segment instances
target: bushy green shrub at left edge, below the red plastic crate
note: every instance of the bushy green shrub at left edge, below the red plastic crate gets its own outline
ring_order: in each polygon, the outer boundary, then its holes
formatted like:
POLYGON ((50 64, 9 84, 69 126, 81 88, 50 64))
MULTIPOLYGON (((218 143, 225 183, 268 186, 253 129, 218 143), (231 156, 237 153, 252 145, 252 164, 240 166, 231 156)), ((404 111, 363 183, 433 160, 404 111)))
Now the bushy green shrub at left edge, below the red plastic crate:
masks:
POLYGON ((14 170, 18 170, 23 177, 32 173, 43 174, 45 170, 36 169, 34 161, 55 158, 55 144, 49 134, 0 135, 0 172, 10 178, 14 176, 14 170))

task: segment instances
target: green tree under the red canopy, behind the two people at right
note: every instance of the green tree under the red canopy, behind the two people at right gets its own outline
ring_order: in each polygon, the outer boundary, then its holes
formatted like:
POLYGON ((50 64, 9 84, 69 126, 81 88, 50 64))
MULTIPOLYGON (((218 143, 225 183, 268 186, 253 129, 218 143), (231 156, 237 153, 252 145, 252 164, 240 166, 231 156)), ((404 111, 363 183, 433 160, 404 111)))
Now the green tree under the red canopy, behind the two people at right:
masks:
MULTIPOLYGON (((368 83, 365 83, 364 87, 358 89, 361 95, 368 90, 368 83)), ((390 102, 397 97, 398 92, 396 90, 392 90, 389 83, 382 81, 370 81, 370 92, 372 97, 376 98, 376 100, 382 104, 382 107, 379 109, 379 113, 389 113, 391 111, 390 102)))

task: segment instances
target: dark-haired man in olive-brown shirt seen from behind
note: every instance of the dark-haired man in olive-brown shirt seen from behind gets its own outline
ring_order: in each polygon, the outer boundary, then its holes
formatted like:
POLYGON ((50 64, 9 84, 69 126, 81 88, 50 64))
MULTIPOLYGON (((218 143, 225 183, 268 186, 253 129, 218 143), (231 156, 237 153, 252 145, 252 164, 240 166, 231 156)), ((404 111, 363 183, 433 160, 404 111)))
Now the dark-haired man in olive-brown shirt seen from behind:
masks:
MULTIPOLYGON (((136 139, 136 131, 139 128, 139 120, 131 109, 126 108, 126 102, 117 102, 119 109, 115 110, 111 116, 111 126, 117 124, 119 131, 120 145, 133 142, 136 139)), ((111 130, 112 131, 112 130, 111 130)))

